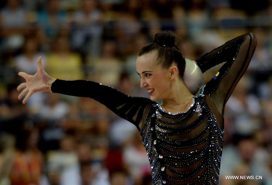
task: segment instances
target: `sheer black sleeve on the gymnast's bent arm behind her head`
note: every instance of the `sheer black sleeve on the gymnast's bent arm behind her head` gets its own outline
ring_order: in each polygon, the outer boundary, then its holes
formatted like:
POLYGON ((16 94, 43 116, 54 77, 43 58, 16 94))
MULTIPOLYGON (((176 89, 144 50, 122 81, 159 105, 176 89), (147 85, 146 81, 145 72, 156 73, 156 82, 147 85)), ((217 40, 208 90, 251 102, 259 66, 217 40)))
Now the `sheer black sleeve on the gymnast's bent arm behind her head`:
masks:
POLYGON ((228 98, 248 68, 256 44, 255 36, 248 33, 234 38, 196 59, 202 73, 225 62, 204 88, 204 93, 211 97, 222 115, 228 98))

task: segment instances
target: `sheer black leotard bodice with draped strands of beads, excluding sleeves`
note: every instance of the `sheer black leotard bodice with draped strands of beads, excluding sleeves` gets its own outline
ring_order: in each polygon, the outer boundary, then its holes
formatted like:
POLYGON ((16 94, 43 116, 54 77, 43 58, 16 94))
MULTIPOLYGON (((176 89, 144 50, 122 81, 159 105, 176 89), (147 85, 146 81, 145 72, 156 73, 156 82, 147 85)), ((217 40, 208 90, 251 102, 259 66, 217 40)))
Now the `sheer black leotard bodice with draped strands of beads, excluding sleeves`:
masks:
POLYGON ((218 184, 224 131, 202 98, 204 87, 188 111, 172 114, 156 103, 149 109, 141 138, 154 185, 218 184))

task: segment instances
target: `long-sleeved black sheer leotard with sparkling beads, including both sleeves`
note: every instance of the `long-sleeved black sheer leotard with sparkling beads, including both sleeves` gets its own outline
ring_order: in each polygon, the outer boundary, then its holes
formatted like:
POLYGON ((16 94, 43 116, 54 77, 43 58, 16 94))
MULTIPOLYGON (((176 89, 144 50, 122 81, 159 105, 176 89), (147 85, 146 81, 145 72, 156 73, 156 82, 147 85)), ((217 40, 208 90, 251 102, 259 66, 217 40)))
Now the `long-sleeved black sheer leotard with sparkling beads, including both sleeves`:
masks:
POLYGON ((171 114, 160 104, 130 97, 92 81, 56 80, 55 93, 90 97, 106 105, 140 131, 154 185, 218 184, 224 135, 224 107, 246 71, 256 47, 252 33, 226 42, 196 59, 204 73, 225 62, 186 112, 171 114))

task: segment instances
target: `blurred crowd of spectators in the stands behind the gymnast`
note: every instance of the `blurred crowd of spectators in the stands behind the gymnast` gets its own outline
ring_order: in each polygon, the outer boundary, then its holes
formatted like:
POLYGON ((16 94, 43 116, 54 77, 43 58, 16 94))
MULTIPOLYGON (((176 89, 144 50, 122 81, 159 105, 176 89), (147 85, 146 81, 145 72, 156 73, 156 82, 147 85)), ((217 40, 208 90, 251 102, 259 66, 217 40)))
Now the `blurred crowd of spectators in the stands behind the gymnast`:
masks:
POLYGON ((160 30, 174 31, 192 60, 244 33, 257 37, 225 108, 220 184, 272 184, 271 0, 3 0, 0 185, 151 185, 134 125, 90 98, 38 93, 24 105, 16 88, 24 81, 18 72, 35 74, 42 56, 53 78, 97 81, 148 97, 135 61, 160 30))

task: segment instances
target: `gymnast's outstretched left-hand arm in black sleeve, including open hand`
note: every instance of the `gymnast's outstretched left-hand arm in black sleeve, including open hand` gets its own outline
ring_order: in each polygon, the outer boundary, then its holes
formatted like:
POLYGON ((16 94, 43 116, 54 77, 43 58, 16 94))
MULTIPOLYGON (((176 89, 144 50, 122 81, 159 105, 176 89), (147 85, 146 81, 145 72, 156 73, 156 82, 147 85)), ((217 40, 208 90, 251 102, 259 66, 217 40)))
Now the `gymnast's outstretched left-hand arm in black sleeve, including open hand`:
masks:
POLYGON ((19 75, 25 78, 26 82, 18 86, 17 90, 24 90, 18 96, 21 99, 25 94, 23 103, 36 92, 54 92, 79 97, 90 97, 104 104, 118 116, 133 123, 138 130, 141 129, 141 123, 144 113, 148 110, 153 101, 144 97, 130 97, 111 87, 102 84, 85 81, 65 81, 51 78, 42 67, 41 57, 37 60, 38 71, 35 75, 29 75, 20 72, 19 75))

